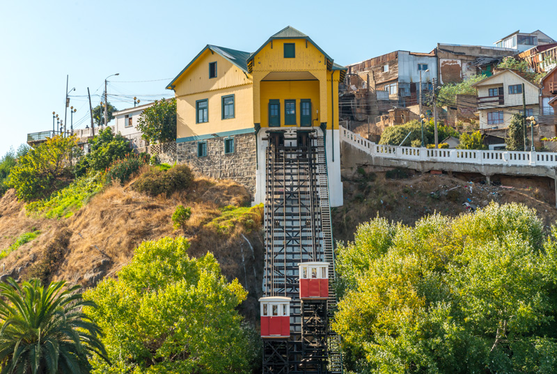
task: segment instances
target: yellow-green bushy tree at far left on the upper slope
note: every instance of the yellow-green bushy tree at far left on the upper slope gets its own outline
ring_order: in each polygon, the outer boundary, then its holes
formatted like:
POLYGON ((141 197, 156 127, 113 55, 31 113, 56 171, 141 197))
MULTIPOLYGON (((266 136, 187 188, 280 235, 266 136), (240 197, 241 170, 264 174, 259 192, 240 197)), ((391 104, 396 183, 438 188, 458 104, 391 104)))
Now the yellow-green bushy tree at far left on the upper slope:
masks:
POLYGON ((50 196, 72 181, 70 155, 74 148, 74 136, 57 136, 40 143, 10 169, 8 186, 15 188, 17 197, 24 201, 50 196))

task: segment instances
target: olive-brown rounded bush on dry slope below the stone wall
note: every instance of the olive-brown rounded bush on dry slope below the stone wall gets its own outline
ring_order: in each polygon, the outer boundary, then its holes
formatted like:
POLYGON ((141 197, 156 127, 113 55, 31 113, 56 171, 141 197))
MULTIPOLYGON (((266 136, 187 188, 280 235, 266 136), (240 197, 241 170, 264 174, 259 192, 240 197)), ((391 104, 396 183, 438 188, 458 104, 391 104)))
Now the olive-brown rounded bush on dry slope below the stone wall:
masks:
POLYGON ((176 165, 168 170, 153 168, 139 177, 134 184, 134 189, 150 196, 170 195, 188 189, 193 180, 194 173, 185 164, 176 165))

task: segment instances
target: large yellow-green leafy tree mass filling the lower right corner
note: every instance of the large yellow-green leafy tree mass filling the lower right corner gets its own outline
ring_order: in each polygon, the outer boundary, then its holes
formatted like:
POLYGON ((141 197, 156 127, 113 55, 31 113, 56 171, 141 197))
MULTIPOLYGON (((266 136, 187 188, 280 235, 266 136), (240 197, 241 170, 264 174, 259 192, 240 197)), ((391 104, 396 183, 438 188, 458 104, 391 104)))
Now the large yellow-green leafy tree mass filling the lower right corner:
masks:
POLYGON ((524 205, 414 227, 377 218, 338 248, 334 329, 361 373, 555 373, 557 242, 524 205))

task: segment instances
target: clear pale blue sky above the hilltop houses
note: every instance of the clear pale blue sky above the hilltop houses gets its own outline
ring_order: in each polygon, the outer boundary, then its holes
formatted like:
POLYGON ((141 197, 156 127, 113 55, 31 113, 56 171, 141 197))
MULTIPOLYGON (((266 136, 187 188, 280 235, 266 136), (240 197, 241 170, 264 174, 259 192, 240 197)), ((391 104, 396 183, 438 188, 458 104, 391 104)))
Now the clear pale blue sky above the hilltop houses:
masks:
MULTIPOLYGON (((109 100, 133 106, 171 95, 166 84, 207 44, 255 51, 291 25, 341 65, 397 49, 430 52, 437 42, 492 45, 520 29, 557 38, 555 6, 524 1, 1 1, 0 157, 28 132, 63 117, 66 75, 88 123, 104 78, 109 100), (255 4, 255 5, 252 5, 255 4), (118 96, 111 96, 118 95, 118 96)), ((68 113, 68 125, 70 114, 68 113)))

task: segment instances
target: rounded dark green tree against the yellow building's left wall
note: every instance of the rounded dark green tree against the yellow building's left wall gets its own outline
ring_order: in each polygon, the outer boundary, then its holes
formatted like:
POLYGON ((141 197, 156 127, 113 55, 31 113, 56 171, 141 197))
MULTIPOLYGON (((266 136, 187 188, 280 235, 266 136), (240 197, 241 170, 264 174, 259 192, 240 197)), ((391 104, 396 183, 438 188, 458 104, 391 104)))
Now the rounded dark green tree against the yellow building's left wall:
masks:
POLYGON ((141 137, 151 143, 176 140, 176 99, 155 100, 141 113, 137 121, 141 137))

